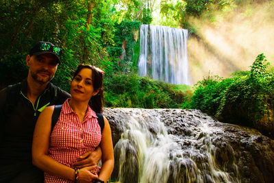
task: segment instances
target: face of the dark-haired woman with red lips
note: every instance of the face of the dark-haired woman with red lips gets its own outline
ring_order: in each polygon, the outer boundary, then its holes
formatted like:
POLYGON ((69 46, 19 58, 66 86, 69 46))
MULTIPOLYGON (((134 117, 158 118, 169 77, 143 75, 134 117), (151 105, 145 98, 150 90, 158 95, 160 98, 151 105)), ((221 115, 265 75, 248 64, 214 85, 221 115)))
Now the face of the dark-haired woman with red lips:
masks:
POLYGON ((79 101, 89 101, 97 93, 92 85, 92 70, 82 69, 71 82, 71 97, 79 101))

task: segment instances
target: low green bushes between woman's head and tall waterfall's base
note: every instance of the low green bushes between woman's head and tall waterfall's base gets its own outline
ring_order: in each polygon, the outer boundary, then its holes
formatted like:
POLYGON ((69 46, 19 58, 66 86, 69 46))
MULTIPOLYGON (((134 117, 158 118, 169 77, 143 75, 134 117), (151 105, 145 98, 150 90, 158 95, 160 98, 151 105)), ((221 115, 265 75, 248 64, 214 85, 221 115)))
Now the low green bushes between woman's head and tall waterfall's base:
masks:
POLYGON ((105 78, 105 106, 123 108, 181 108, 190 91, 131 73, 105 78))

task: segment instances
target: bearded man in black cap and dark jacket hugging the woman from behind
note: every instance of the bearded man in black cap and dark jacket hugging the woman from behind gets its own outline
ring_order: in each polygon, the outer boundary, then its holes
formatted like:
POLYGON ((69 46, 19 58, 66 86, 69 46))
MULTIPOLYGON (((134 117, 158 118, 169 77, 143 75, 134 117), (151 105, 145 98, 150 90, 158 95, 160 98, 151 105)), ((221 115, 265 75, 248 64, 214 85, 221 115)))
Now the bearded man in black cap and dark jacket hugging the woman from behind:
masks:
MULTIPOLYGON (((27 79, 0 91, 0 182, 43 182, 42 171, 32 165, 32 137, 40 112, 70 97, 50 82, 61 54, 51 42, 38 42, 26 58, 27 79)), ((77 168, 97 164, 101 149, 79 158, 77 168)))

